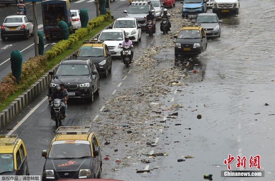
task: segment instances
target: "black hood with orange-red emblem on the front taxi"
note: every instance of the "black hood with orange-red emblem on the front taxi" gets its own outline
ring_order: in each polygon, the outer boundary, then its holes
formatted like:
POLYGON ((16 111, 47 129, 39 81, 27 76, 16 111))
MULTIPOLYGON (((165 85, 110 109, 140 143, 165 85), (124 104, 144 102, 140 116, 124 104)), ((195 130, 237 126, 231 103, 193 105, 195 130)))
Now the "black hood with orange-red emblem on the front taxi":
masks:
POLYGON ((77 171, 90 168, 92 158, 84 159, 46 159, 44 169, 55 171, 77 171))

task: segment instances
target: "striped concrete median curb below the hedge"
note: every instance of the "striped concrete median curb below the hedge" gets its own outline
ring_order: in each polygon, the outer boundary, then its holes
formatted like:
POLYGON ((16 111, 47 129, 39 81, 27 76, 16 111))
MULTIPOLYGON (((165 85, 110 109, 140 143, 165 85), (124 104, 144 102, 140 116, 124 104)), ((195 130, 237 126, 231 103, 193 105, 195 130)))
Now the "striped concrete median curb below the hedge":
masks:
MULTIPOLYGON (((112 24, 111 24, 112 25, 112 24)), ((104 29, 109 29, 109 26, 104 29)), ((99 37, 101 31, 93 36, 91 39, 99 37)), ((73 58, 72 54, 64 59, 73 58)), ((49 71, 55 70, 58 64, 49 71)), ((11 121, 13 121, 22 111, 27 108, 34 100, 36 100, 43 92, 48 89, 49 83, 52 79, 52 75, 49 72, 45 73, 40 79, 33 83, 27 91, 16 98, 5 110, 0 113, 0 130, 5 128, 11 121)))

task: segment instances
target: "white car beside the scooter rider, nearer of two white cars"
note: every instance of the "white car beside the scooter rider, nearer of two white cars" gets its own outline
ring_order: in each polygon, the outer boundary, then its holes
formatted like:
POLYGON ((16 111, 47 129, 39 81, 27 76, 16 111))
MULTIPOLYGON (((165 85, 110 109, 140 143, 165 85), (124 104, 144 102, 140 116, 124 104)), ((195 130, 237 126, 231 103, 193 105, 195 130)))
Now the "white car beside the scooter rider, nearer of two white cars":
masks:
POLYGON ((119 44, 124 41, 126 32, 122 29, 105 29, 100 33, 99 41, 103 41, 108 46, 112 56, 120 56, 121 48, 119 44))

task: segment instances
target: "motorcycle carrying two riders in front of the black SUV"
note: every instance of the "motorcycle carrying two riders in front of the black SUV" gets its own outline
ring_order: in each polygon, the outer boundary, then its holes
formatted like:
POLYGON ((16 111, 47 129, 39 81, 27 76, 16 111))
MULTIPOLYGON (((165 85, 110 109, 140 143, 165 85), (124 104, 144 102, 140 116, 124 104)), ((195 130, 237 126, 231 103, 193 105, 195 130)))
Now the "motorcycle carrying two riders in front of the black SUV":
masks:
MULTIPOLYGON (((47 94, 48 97, 50 97, 50 95, 47 94)), ((55 121, 55 126, 56 128, 58 128, 59 126, 61 126, 61 120, 65 119, 63 113, 63 107, 62 107, 62 102, 64 101, 64 99, 54 99, 51 101, 51 111, 53 108, 54 111, 54 117, 53 117, 53 121, 55 121)))

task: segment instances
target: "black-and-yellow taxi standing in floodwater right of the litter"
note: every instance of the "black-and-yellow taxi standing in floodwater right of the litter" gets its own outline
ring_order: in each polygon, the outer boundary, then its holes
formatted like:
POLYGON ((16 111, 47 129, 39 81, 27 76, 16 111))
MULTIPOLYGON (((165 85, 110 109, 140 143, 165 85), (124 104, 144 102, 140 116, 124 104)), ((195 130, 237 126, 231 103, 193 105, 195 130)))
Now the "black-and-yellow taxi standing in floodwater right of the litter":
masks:
POLYGON ((176 38, 175 57, 178 55, 198 55, 207 48, 206 32, 201 24, 184 25, 174 38, 176 38))

